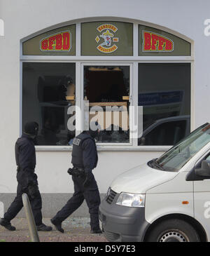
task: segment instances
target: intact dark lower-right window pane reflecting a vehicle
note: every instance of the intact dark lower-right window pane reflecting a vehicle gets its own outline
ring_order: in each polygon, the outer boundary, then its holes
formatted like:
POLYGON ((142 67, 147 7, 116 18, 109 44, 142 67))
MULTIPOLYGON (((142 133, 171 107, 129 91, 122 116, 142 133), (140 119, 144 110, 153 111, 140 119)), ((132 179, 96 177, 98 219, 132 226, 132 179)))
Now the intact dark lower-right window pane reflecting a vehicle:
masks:
POLYGON ((173 145, 190 133, 190 64, 139 64, 139 145, 173 145))

